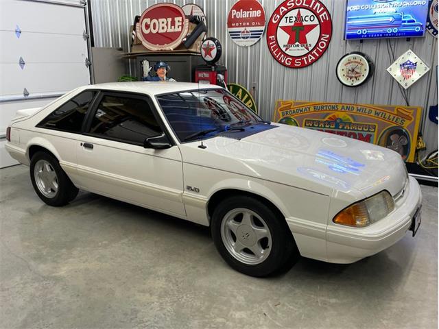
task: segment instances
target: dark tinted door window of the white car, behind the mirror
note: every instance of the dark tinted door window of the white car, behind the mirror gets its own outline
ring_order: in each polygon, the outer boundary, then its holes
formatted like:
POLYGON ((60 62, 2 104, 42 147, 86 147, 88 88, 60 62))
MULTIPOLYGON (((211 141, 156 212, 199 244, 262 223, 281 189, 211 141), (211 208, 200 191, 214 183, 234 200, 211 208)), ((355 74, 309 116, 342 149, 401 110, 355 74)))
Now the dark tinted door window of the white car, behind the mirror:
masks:
POLYGON ((89 132, 143 145, 146 138, 157 136, 162 130, 144 99, 105 95, 97 106, 89 132))

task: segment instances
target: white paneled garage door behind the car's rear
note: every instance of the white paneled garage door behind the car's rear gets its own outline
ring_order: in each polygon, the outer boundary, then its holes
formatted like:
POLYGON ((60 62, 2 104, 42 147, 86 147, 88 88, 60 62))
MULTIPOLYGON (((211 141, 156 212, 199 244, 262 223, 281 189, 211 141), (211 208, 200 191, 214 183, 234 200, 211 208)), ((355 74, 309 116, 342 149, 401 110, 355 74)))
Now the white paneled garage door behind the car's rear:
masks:
POLYGON ((16 164, 4 145, 17 110, 90 84, 85 22, 80 0, 0 1, 0 168, 16 164))

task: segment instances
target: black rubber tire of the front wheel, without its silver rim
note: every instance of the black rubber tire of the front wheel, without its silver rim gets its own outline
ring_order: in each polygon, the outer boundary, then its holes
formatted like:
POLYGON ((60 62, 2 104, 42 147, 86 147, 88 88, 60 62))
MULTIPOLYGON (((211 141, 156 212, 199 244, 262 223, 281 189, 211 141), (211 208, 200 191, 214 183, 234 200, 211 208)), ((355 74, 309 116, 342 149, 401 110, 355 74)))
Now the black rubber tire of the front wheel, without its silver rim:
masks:
POLYGON ((286 260, 291 258, 294 250, 294 239, 291 232, 287 231, 286 223, 264 203, 252 197, 231 197, 221 202, 214 210, 211 223, 211 233, 215 246, 219 254, 226 260, 230 267, 249 276, 263 277, 276 273, 286 260), (235 208, 247 208, 257 213, 267 224, 272 236, 272 248, 270 255, 262 263, 257 265, 247 265, 241 263, 232 256, 222 241, 221 224, 227 212, 235 208))

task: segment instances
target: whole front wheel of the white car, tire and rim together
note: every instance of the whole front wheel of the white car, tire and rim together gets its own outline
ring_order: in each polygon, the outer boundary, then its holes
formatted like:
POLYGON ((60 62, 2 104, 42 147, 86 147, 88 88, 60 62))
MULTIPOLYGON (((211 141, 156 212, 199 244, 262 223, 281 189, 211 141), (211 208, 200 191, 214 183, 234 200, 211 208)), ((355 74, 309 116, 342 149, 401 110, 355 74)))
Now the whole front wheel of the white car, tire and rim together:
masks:
POLYGON ((226 263, 248 276, 280 273, 299 256, 285 219, 254 197, 230 197, 219 203, 213 210, 211 232, 226 263))

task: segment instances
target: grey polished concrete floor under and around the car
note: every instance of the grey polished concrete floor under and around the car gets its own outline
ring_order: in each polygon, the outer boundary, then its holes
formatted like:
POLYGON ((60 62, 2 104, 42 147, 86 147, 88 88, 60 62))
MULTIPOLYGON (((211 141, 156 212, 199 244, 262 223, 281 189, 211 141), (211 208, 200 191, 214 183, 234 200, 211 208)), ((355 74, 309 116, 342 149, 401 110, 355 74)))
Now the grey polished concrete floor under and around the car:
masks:
POLYGON ((209 229, 91 193, 52 208, 0 170, 0 328, 438 328, 438 188, 423 222, 352 265, 230 269, 209 229))

